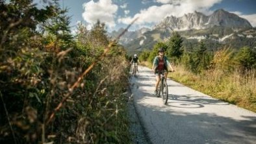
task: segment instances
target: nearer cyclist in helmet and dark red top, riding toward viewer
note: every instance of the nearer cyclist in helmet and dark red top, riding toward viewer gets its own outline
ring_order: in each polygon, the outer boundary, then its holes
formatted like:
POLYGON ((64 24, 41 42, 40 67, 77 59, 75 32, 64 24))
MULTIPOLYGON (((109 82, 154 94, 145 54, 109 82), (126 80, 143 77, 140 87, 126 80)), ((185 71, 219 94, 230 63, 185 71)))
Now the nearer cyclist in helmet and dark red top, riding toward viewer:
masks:
POLYGON ((155 78, 157 82, 155 83, 155 94, 157 95, 157 87, 159 86, 160 82, 160 71, 164 71, 164 77, 167 78, 168 75, 168 67, 171 71, 174 71, 172 65, 168 61, 167 57, 164 56, 164 49, 162 47, 159 48, 159 55, 155 56, 155 59, 153 61, 153 67, 152 70, 155 72, 155 78))

